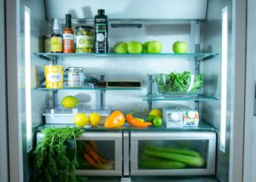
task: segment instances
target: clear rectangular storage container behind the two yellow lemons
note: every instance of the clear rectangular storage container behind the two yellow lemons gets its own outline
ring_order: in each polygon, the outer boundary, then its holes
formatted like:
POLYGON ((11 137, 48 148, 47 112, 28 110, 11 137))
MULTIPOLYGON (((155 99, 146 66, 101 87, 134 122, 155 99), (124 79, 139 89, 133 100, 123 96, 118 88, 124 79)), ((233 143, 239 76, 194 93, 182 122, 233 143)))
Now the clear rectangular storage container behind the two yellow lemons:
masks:
POLYGON ((46 124, 73 124, 73 117, 79 113, 84 112, 87 116, 92 112, 97 112, 101 116, 101 123, 105 122, 106 118, 110 115, 110 106, 91 106, 79 105, 73 109, 65 109, 56 107, 54 109, 46 109, 43 113, 46 124))

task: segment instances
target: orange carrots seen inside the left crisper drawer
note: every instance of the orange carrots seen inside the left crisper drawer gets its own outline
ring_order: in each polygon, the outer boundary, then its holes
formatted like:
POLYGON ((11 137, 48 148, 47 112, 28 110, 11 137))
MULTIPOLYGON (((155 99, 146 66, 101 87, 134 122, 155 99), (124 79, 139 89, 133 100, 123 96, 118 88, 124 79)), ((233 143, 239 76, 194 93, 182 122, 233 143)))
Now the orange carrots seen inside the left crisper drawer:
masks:
POLYGON ((113 170, 114 163, 103 157, 93 140, 79 141, 79 167, 113 170))

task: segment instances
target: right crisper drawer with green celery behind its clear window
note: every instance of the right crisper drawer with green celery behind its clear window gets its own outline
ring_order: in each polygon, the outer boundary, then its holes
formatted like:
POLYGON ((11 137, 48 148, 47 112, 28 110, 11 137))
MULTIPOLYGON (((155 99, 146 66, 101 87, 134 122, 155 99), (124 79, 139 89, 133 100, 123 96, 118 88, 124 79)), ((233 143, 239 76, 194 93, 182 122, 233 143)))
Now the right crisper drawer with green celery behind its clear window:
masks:
POLYGON ((213 132, 131 132, 131 175, 215 173, 213 132))

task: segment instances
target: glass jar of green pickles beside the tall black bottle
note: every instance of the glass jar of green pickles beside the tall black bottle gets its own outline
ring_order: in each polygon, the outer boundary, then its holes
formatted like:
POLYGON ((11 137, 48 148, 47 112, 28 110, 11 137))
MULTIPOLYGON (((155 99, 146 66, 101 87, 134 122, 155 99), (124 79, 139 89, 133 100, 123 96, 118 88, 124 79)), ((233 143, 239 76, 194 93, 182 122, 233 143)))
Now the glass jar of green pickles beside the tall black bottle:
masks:
POLYGON ((76 27, 76 53, 93 53, 94 39, 92 26, 76 27))

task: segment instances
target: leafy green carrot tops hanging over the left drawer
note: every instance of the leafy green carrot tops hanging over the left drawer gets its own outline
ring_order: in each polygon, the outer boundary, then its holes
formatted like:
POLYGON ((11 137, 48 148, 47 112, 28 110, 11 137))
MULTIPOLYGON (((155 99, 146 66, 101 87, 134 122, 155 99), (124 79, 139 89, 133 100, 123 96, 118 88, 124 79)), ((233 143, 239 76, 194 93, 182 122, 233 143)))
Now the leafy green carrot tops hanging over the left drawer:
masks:
POLYGON ((34 151, 36 181, 76 181, 76 138, 83 132, 83 128, 44 128, 34 151))

